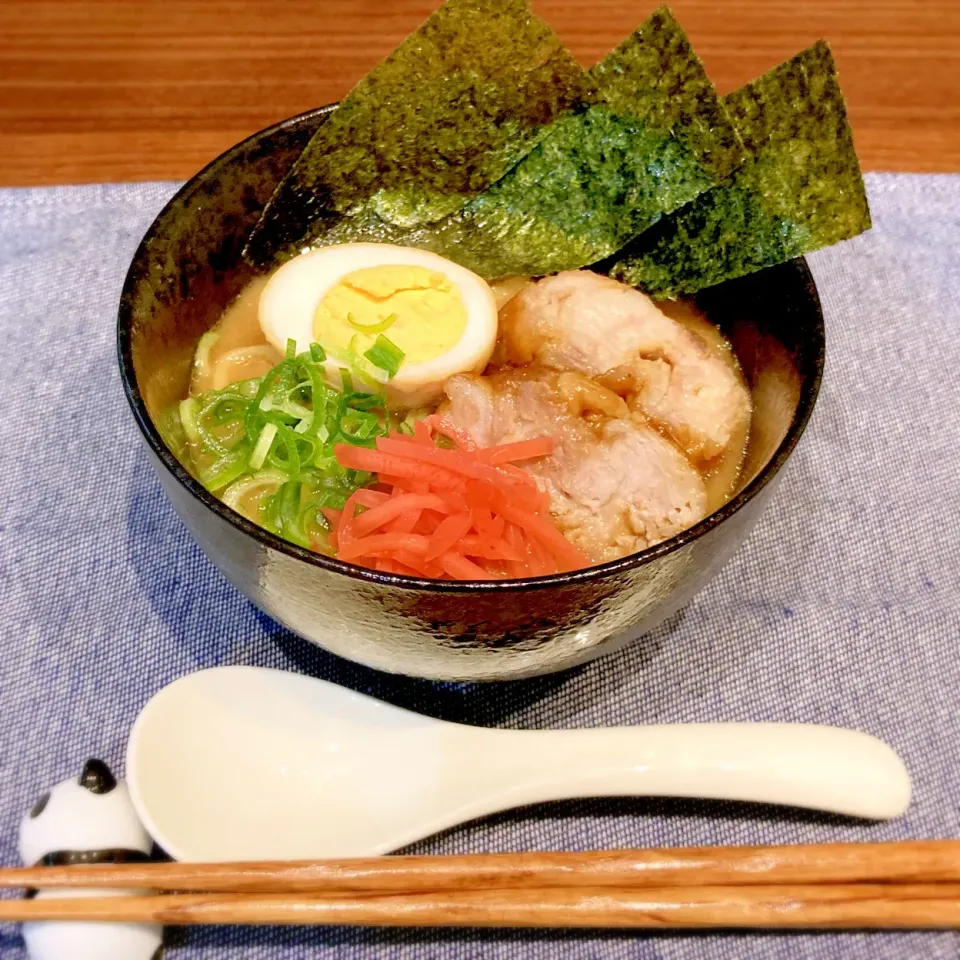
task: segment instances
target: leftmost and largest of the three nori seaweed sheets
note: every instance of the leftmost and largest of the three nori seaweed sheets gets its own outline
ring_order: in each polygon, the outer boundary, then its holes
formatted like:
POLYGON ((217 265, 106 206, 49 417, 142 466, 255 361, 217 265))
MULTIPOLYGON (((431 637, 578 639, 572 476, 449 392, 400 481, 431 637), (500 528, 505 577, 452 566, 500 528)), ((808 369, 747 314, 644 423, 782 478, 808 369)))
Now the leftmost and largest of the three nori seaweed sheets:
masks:
POLYGON ((583 69, 526 0, 448 0, 317 131, 247 256, 289 256, 344 215, 439 220, 499 180, 586 90, 583 69))

